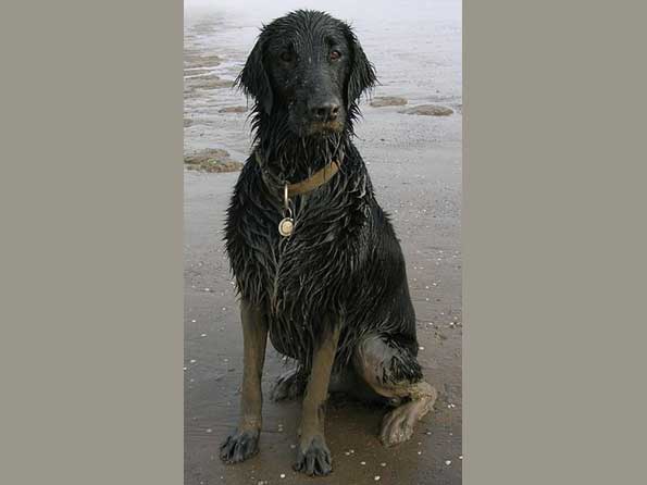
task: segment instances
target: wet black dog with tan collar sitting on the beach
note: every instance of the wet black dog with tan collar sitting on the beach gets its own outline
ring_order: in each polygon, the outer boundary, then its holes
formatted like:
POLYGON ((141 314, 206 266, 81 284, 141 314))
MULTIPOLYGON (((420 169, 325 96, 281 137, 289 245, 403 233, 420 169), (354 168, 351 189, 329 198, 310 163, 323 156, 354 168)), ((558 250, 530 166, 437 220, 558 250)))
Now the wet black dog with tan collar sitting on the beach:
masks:
POLYGON ((360 95, 375 82, 350 27, 312 11, 265 26, 238 78, 256 101, 256 147, 225 231, 245 339, 240 422, 221 446, 227 462, 258 451, 267 334, 299 363, 273 397, 304 391, 295 469, 309 475, 332 471, 329 387, 364 386, 398 405, 383 421, 387 446, 409 439, 436 399, 415 359, 402 251, 352 144, 360 95))

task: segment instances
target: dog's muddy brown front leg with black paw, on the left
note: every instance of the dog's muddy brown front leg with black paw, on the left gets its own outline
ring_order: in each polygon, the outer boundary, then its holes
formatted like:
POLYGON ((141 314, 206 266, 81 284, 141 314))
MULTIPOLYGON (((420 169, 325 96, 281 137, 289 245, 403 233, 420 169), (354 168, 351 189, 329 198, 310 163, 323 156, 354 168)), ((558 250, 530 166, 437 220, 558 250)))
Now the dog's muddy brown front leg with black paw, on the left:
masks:
POLYGON ((250 302, 240 302, 242 321, 244 364, 238 428, 221 445, 220 457, 227 463, 237 463, 256 455, 261 434, 263 395, 261 376, 265 361, 267 322, 261 311, 250 302))

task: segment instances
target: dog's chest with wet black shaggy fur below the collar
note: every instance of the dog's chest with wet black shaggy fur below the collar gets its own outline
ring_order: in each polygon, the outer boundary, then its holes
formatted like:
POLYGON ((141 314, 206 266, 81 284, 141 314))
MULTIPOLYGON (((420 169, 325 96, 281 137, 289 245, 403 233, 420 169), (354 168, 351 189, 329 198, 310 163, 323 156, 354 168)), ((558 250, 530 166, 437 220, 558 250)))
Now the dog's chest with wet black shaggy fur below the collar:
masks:
POLYGON ((296 197, 293 232, 284 237, 279 199, 264 189, 258 174, 244 172, 226 231, 241 297, 271 315, 299 321, 343 306, 365 260, 371 214, 365 183, 362 173, 351 176, 349 171, 296 197))

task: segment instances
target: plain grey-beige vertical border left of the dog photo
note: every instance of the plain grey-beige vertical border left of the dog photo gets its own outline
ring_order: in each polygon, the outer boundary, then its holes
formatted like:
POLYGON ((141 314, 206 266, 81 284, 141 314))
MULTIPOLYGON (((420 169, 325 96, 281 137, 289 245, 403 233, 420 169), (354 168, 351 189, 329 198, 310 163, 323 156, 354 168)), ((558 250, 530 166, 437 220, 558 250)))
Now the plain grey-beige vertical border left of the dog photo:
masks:
POLYGON ((2 484, 182 483, 182 16, 2 2, 2 484))

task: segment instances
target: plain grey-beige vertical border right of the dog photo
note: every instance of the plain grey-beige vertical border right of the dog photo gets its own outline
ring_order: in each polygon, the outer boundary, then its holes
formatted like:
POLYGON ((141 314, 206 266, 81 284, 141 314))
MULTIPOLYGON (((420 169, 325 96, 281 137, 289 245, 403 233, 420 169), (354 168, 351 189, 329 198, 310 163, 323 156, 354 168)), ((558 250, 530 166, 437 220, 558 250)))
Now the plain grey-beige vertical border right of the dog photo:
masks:
POLYGON ((645 481, 645 10, 465 2, 465 484, 645 481))

